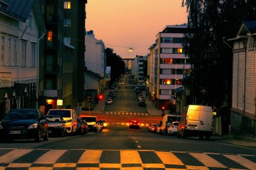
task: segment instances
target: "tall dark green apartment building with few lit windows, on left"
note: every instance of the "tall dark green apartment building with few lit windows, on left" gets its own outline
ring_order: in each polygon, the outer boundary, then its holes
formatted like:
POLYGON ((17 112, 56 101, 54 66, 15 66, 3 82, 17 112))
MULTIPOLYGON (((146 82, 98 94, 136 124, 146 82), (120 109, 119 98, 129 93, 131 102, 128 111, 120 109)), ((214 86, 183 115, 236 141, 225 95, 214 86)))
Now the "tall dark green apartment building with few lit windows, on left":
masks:
POLYGON ((40 54, 40 107, 47 112, 84 102, 84 0, 41 0, 46 38, 40 54))

